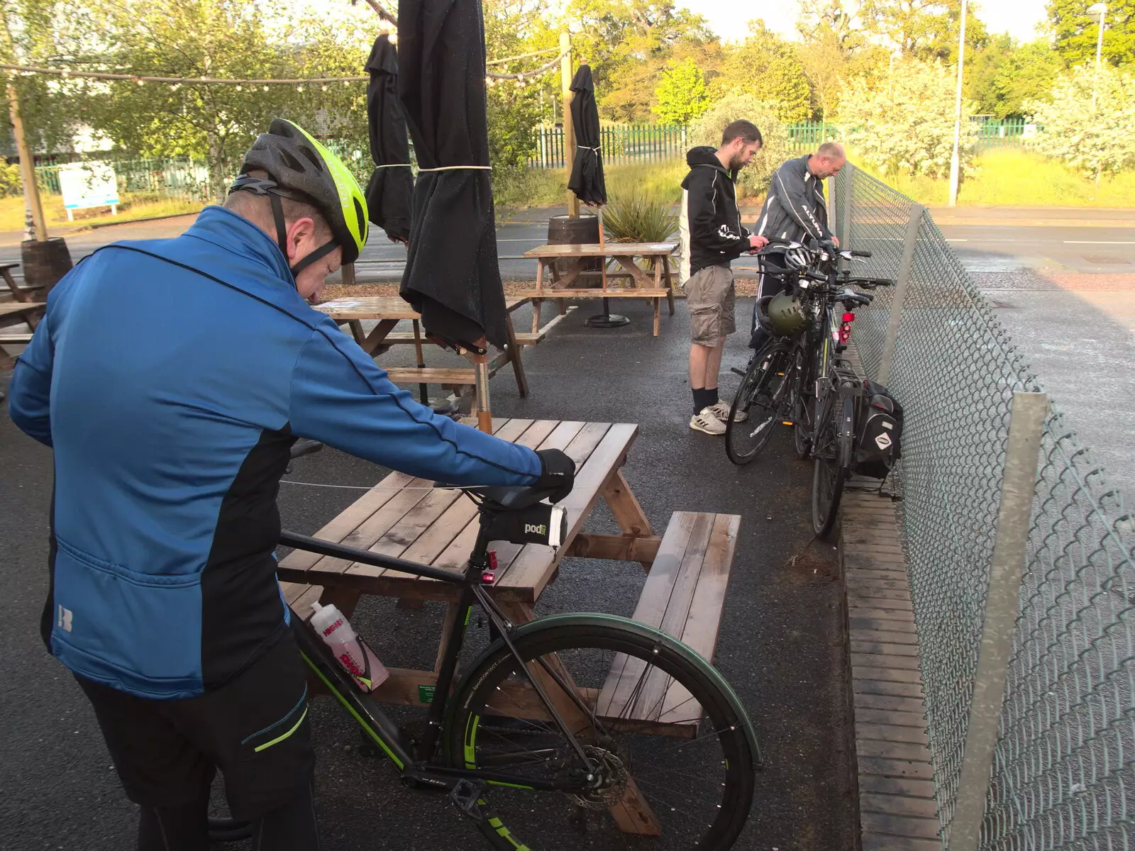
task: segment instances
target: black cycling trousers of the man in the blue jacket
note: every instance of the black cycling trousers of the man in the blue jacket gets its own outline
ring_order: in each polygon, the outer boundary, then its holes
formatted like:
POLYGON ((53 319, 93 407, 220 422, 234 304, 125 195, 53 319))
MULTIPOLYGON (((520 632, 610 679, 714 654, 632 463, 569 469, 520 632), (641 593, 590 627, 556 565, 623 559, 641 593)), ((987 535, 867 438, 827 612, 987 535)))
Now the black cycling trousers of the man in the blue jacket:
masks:
POLYGON ((218 769, 233 817, 253 823, 254 843, 260 835, 253 848, 319 848, 306 674, 291 632, 200 697, 148 700, 75 679, 94 707, 126 797, 142 806, 141 851, 208 849, 218 769))

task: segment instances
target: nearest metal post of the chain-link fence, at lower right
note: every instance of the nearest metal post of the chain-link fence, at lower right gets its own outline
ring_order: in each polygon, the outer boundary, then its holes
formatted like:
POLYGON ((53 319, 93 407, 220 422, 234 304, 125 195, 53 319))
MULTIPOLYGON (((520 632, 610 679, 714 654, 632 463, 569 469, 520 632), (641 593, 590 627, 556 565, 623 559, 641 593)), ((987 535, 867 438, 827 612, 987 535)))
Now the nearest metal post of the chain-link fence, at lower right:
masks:
POLYGON ((1015 393, 1001 479, 982 644, 974 674, 969 726, 961 758, 958 800, 950 823, 949 851, 976 851, 985 816, 993 748, 997 744, 1009 655, 1016 631, 1017 598, 1025 570, 1041 433, 1049 412, 1043 393, 1015 393))

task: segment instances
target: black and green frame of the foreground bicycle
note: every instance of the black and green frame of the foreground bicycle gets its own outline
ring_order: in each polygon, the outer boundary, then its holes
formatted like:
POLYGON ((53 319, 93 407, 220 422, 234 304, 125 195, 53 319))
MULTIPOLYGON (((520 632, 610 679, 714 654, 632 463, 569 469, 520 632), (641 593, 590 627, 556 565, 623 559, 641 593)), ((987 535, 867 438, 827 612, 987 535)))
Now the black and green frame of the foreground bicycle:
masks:
MULTIPOLYGON (((478 604, 496 625, 503 641, 513 656, 521 663, 520 669, 526 673, 529 684, 532 685, 544 705, 544 709, 552 717, 553 722, 561 728, 565 738, 573 744, 577 756, 582 764, 592 769, 591 759, 587 757, 582 748, 575 741, 575 736, 570 732, 563 718, 556 711, 552 700, 548 699, 539 682, 528 671, 514 644, 511 640, 513 624, 496 605, 486 591, 485 580, 489 571, 488 563, 488 540, 486 537, 487 525, 481 523, 477 544, 469 558, 463 573, 444 571, 429 565, 406 562, 401 558, 384 556, 369 550, 345 547, 339 544, 310 538, 295 532, 284 531, 280 533, 279 542, 287 547, 303 549, 319 555, 343 558, 348 562, 359 562, 375 567, 410 573, 417 576, 439 580, 461 589, 457 598, 457 616, 452 620, 445 630, 442 641, 445 651, 442 658, 442 666, 438 671, 437 683, 430 699, 427 714, 427 728, 420 742, 412 742, 402 728, 395 724, 378 706, 378 702, 369 694, 364 694, 358 688, 354 679, 344 671, 331 656, 327 644, 314 633, 314 631, 303 621, 303 617, 292 609, 292 627, 300 646, 300 652, 304 662, 322 681, 336 700, 342 703, 354 717, 363 731, 375 741, 397 769, 412 782, 421 783, 439 789, 452 789, 461 780, 477 778, 490 785, 504 784, 523 786, 536 790, 565 790, 571 789, 566 781, 561 782, 538 782, 531 777, 519 777, 505 772, 486 772, 481 769, 451 768, 437 760, 438 744, 442 732, 445 728, 445 715, 449 693, 456 676, 457 659, 461 655, 464 641, 465 627, 472 613, 473 604, 478 604)), ((602 730, 602 724, 587 707, 587 705, 575 694, 574 689, 563 682, 557 672, 548 666, 544 660, 540 664, 545 672, 564 689, 573 702, 589 717, 596 728, 602 730)))

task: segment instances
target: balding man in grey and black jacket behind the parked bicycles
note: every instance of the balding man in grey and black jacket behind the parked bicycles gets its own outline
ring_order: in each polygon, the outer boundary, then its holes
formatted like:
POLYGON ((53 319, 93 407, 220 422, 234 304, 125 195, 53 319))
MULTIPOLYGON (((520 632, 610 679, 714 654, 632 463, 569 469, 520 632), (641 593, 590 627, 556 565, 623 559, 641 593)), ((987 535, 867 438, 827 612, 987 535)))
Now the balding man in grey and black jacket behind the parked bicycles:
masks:
MULTIPOLYGON (((847 157, 843 145, 839 142, 824 142, 816 153, 789 160, 773 175, 765 199, 760 218, 757 219, 757 234, 766 238, 789 239, 806 243, 809 239, 839 239, 827 227, 827 203, 824 201, 824 180, 838 175, 847 157)), ((784 279, 774 272, 783 272, 774 245, 760 260, 760 283, 757 288, 757 300, 763 296, 776 295, 787 288, 784 279)), ((766 335, 757 325, 756 309, 753 312, 753 335, 749 338, 750 348, 760 348, 766 335)))

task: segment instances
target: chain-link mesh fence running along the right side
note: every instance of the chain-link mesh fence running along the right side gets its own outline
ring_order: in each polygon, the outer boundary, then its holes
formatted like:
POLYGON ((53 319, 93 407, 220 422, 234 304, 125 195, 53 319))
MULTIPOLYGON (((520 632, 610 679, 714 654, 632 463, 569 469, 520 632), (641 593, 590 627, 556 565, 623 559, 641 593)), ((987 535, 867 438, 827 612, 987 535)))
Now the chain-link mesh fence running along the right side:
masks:
MULTIPOLYGON (((928 213, 850 167, 832 204, 841 243, 873 252, 864 273, 882 277, 899 276, 911 211, 922 217, 905 293, 875 290, 855 339, 876 376, 901 298, 888 380, 906 412, 898 505, 949 849, 1010 407, 1040 385, 928 213)), ((1135 848, 1133 630, 1132 515, 1051 407, 980 848, 1135 848)))

